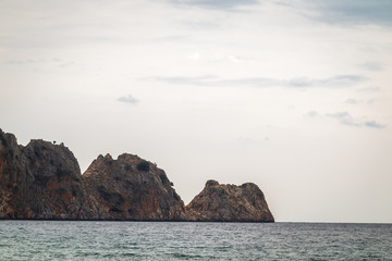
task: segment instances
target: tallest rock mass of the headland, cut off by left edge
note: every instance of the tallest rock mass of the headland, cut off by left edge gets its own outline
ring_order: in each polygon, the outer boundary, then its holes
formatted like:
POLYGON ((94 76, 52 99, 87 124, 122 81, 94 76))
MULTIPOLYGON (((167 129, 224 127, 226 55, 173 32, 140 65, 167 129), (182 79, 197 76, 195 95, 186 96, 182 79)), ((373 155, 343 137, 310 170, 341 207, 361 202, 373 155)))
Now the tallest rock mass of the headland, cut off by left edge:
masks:
POLYGON ((78 163, 63 145, 19 146, 0 129, 0 219, 95 219, 78 163))

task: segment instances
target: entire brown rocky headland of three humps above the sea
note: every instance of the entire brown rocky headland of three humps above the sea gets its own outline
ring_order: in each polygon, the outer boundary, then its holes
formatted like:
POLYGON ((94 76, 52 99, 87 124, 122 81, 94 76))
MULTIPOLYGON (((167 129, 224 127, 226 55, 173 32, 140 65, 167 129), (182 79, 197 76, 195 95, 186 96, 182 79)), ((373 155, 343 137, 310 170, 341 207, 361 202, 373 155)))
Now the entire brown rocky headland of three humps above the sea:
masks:
POLYGON ((208 181, 184 206, 163 170, 137 156, 99 156, 82 175, 63 144, 17 145, 0 129, 0 219, 273 222, 262 191, 208 181))

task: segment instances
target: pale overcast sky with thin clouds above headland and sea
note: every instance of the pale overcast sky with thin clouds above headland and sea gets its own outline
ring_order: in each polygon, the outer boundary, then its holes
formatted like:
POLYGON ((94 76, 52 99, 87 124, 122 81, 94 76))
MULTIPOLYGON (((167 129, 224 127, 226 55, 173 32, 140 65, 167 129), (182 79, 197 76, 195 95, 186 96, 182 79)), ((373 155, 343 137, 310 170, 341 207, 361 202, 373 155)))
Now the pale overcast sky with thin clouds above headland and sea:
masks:
POLYGON ((0 0, 0 128, 84 172, 138 154, 188 203, 257 184, 279 222, 392 223, 392 1, 0 0))

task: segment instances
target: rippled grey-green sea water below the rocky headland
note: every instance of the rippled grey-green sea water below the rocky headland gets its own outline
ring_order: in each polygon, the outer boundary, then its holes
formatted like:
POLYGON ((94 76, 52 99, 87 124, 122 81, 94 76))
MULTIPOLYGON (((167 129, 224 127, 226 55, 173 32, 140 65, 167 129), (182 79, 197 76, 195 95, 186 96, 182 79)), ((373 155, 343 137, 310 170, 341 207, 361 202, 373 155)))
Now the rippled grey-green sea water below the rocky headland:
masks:
POLYGON ((0 221, 0 260, 392 260, 392 224, 0 221))

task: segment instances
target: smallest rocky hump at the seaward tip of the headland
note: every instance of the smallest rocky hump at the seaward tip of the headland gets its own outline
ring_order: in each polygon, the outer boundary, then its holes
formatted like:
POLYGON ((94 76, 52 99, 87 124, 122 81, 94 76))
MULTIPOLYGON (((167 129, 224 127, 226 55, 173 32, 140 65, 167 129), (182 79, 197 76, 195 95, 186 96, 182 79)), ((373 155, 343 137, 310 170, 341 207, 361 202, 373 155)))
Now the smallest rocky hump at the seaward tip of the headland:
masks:
POLYGON ((253 183, 235 186, 208 181, 186 206, 186 213, 196 221, 273 222, 262 191, 253 183))

